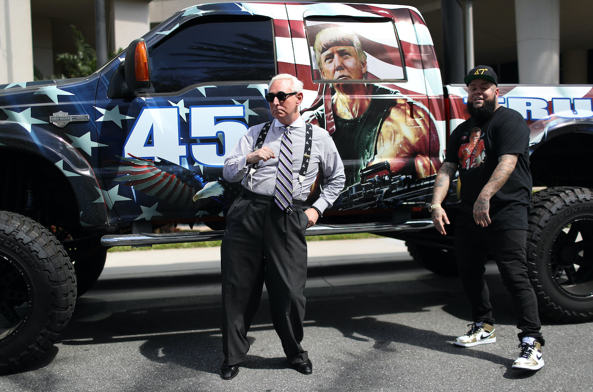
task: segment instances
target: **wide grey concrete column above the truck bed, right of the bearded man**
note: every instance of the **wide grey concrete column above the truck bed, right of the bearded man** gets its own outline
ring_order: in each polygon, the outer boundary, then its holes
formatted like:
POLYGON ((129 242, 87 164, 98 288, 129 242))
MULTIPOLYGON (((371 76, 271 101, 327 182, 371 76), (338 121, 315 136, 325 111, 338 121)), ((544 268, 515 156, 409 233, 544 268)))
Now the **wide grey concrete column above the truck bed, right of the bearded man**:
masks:
POLYGON ((560 79, 560 0, 515 0, 519 83, 560 79))

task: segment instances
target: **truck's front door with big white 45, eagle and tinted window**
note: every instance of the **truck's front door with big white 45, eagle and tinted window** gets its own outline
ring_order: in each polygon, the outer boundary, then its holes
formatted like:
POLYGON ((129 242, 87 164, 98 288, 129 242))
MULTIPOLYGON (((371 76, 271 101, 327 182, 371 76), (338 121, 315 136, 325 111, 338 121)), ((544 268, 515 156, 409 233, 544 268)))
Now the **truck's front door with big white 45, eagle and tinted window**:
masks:
POLYGON ((263 97, 280 68, 275 21, 286 12, 266 7, 217 4, 172 17, 145 37, 152 91, 98 92, 105 193, 122 219, 222 219, 238 192, 222 181, 225 155, 248 127, 270 120, 263 97), (208 192, 195 202, 200 189, 208 192))

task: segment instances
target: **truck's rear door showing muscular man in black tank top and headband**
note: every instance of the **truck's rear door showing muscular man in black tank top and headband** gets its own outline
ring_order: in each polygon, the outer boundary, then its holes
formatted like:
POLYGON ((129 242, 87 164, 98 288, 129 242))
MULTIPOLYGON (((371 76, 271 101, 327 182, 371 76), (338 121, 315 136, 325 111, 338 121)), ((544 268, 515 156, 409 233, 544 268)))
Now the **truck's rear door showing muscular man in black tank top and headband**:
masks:
POLYGON ((425 203, 442 159, 410 10, 287 9, 301 21, 291 28, 297 76, 310 91, 305 119, 330 132, 345 164, 334 209, 425 203))

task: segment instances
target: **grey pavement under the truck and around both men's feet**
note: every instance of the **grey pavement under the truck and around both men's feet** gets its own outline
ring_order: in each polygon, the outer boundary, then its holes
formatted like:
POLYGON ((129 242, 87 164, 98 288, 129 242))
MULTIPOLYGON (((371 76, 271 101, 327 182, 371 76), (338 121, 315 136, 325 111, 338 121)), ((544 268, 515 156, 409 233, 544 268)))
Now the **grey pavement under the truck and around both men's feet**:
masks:
POLYGON ((452 345, 470 314, 457 278, 419 268, 401 241, 309 242, 303 346, 313 374, 291 369, 267 293, 233 380, 221 380, 219 248, 109 253, 99 281, 47 355, 0 377, 4 392, 378 392, 593 390, 593 323, 544 320, 546 366, 514 371, 509 296, 486 279, 497 342, 452 345))

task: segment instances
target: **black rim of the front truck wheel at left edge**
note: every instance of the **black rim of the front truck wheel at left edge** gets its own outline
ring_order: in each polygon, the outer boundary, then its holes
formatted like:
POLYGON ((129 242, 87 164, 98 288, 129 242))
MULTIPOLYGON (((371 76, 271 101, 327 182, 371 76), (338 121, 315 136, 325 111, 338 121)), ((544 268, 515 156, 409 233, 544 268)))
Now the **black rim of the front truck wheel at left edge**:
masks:
POLYGON ((0 344, 24 328, 33 309, 33 285, 22 266, 0 252, 0 344))

